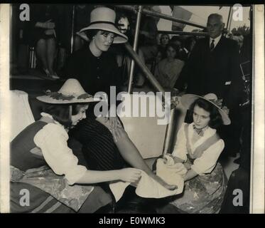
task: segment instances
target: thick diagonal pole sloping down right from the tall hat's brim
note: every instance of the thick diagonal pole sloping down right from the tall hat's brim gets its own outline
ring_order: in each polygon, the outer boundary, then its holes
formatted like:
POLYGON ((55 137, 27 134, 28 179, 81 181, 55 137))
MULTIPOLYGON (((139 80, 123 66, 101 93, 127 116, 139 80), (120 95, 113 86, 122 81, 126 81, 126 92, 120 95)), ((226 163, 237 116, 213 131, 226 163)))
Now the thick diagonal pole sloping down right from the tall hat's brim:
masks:
POLYGON ((147 66, 140 60, 139 56, 134 51, 134 49, 131 47, 131 45, 127 42, 127 43, 124 43, 124 46, 125 46, 126 50, 129 52, 129 54, 131 55, 131 57, 134 59, 136 64, 139 66, 141 71, 143 71, 146 78, 151 82, 151 84, 156 88, 156 90, 162 92, 163 98, 165 98, 165 90, 160 85, 160 83, 158 83, 158 81, 153 76, 153 74, 149 71, 147 66))

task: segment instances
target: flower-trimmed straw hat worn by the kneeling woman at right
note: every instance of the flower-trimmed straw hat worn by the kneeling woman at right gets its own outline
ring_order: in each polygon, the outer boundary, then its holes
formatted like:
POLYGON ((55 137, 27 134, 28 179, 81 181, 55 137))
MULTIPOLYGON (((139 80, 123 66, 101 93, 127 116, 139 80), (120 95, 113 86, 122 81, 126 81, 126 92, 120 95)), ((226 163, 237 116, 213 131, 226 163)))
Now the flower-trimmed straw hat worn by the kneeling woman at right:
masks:
POLYGON ((231 120, 228 116, 228 109, 225 107, 222 107, 222 100, 217 98, 217 95, 215 93, 208 93, 205 96, 195 95, 195 94, 185 94, 180 98, 180 102, 182 105, 189 109, 190 105, 195 102, 198 98, 202 98, 203 100, 207 100, 212 105, 215 105, 216 108, 218 108, 218 111, 222 117, 222 122, 224 125, 229 125, 231 123, 231 120))

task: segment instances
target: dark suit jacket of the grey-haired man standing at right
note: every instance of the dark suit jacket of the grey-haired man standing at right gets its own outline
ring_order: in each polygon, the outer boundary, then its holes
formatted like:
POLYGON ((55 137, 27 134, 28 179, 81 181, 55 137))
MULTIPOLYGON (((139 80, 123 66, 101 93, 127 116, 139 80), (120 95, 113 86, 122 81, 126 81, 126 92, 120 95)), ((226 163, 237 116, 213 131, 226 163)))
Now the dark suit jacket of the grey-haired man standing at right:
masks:
POLYGON ((198 40, 175 87, 181 89, 185 83, 188 85, 187 93, 215 93, 218 98, 224 99, 228 108, 238 104, 243 80, 237 43, 222 37, 211 52, 209 37, 198 40))

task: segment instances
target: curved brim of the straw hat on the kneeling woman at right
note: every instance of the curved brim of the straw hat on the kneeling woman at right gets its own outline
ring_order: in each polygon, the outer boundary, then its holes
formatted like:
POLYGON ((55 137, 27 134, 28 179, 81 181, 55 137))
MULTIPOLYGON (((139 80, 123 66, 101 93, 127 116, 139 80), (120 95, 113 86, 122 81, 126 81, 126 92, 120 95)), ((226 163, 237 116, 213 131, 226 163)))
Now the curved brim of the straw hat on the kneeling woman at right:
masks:
MULTIPOLYGON (((180 98, 180 102, 182 103, 182 105, 189 109, 190 105, 195 102, 195 100, 197 100, 198 98, 202 98, 203 100, 207 100, 205 98, 203 98, 200 95, 195 95, 195 94, 184 94, 181 98, 180 98)), ((227 115, 227 113, 225 113, 224 110, 222 110, 220 107, 218 107, 215 103, 213 103, 210 100, 207 100, 208 102, 210 102, 212 105, 215 105, 216 108, 218 108, 218 111, 222 117, 222 121, 224 123, 224 125, 229 125, 231 123, 231 120, 229 119, 229 116, 227 115)))

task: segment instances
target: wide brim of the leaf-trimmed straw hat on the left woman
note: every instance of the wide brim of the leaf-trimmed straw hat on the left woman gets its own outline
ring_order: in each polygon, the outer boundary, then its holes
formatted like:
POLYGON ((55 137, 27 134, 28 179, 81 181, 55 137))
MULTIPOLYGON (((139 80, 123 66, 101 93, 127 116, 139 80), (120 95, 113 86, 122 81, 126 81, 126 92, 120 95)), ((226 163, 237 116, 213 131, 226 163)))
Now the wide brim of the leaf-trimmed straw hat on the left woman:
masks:
POLYGON ((71 100, 63 100, 63 99, 55 99, 50 97, 49 95, 41 95, 37 97, 38 100, 49 103, 49 104, 73 104, 73 103, 91 103, 91 102, 99 102, 100 98, 85 98, 85 99, 78 99, 72 98, 71 100))

